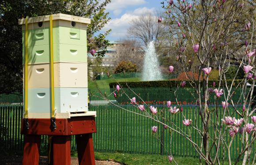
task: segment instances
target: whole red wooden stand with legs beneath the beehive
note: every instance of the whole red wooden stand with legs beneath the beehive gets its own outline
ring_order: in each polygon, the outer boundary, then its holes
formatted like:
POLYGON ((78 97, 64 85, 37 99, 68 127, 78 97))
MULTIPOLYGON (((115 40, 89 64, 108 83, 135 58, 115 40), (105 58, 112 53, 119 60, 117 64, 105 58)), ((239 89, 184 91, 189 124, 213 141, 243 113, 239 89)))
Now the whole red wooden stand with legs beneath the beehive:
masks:
POLYGON ((92 133, 96 132, 94 116, 56 118, 56 130, 50 119, 29 118, 29 129, 22 120, 21 134, 25 135, 23 165, 38 165, 41 135, 51 137, 51 165, 71 165, 71 135, 75 135, 79 165, 95 165, 92 133))

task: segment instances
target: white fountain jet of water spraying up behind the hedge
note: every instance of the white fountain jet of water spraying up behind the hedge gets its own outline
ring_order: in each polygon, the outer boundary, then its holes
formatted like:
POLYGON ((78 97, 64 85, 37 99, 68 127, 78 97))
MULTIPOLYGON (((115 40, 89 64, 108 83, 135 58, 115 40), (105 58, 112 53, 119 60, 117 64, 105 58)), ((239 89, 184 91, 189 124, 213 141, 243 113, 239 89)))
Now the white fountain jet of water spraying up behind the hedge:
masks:
POLYGON ((155 53, 154 43, 151 41, 147 45, 146 56, 143 64, 142 81, 162 80, 162 73, 159 68, 157 54, 155 53))

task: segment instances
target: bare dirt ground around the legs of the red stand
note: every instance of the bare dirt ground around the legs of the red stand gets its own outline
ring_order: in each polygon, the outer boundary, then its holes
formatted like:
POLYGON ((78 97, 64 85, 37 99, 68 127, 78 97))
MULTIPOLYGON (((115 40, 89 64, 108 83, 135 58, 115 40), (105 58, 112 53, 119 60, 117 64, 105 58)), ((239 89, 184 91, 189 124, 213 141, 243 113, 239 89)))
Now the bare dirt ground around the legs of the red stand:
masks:
MULTIPOLYGON (((5 156, 0 158, 0 165, 21 165, 22 156, 5 156)), ((40 156, 39 165, 47 165, 47 157, 40 156)), ((78 159, 71 158, 71 165, 78 165, 78 159)), ((114 161, 96 161, 96 165, 121 165, 114 161)))

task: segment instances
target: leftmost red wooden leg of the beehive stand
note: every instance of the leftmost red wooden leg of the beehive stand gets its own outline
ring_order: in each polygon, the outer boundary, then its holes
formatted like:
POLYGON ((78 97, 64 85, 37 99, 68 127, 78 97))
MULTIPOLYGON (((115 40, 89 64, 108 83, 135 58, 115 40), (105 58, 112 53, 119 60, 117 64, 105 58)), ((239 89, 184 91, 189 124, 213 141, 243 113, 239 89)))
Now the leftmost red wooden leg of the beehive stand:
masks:
POLYGON ((25 135, 24 151, 23 151, 23 158, 22 158, 23 165, 39 164, 40 143, 41 143, 40 135, 25 135))

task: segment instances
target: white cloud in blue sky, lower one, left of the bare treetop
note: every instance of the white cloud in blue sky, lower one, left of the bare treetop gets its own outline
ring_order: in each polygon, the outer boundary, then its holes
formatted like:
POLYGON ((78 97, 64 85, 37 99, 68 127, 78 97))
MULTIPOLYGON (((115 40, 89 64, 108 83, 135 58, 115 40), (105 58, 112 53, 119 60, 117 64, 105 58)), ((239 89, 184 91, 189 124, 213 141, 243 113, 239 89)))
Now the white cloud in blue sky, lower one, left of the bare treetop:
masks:
POLYGON ((134 11, 127 11, 120 18, 111 19, 109 23, 102 29, 103 31, 112 29, 109 34, 110 38, 124 38, 127 35, 127 29, 130 27, 132 19, 139 18, 139 15, 156 12, 155 8, 137 8, 134 11))

